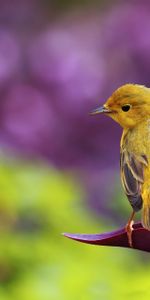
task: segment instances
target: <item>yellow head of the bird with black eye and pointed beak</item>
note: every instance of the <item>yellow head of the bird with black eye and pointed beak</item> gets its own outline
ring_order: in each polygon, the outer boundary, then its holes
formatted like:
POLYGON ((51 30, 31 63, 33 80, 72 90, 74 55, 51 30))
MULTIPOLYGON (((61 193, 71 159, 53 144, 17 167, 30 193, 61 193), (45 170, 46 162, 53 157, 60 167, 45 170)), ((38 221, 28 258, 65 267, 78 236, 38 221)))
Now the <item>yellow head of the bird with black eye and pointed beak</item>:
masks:
POLYGON ((106 103, 91 112, 104 113, 123 128, 133 128, 150 118, 150 89, 138 84, 125 84, 117 89, 106 103))

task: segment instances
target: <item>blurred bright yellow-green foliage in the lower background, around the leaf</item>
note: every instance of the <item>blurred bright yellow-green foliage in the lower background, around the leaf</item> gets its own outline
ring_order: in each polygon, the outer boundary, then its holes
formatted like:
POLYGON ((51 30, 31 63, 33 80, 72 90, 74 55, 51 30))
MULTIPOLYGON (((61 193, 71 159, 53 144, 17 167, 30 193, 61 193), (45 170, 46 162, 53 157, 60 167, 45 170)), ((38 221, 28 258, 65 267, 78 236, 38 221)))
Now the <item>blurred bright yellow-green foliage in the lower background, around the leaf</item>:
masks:
POLYGON ((146 254, 61 235, 106 230, 83 209, 84 197, 70 173, 1 158, 1 300, 149 299, 146 254))

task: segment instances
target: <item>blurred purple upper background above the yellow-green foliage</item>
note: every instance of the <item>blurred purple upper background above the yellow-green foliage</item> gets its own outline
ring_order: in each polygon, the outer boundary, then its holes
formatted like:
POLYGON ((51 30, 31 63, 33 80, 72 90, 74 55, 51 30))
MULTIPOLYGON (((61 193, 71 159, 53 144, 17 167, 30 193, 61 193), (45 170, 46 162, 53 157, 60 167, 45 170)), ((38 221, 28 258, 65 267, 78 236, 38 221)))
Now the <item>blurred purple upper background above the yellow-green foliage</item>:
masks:
POLYGON ((121 129, 88 113, 126 82, 150 85, 150 2, 74 4, 0 0, 0 146, 78 174, 109 214, 121 129))

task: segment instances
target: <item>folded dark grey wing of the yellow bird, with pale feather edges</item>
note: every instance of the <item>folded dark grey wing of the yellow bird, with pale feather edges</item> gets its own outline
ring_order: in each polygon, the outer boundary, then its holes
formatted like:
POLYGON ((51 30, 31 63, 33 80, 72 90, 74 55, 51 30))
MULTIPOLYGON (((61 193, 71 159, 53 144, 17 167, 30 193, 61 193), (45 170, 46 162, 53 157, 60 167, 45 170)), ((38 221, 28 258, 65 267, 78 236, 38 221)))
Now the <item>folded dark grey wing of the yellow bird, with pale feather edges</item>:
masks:
POLYGON ((136 157, 126 150, 121 151, 120 168, 123 188, 134 211, 142 208, 141 187, 144 181, 144 166, 148 165, 145 155, 136 157))

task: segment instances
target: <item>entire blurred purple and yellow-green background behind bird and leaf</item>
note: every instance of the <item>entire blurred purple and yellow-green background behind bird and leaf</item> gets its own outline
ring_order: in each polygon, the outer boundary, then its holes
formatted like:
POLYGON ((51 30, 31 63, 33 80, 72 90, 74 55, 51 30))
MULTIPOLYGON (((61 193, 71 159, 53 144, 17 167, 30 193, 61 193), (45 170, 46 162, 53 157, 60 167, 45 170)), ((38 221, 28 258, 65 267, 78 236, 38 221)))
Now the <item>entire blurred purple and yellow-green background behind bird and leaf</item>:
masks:
POLYGON ((88 112, 149 84, 149 8, 0 0, 0 300, 149 299, 149 254, 62 236, 129 217, 120 130, 88 112))

